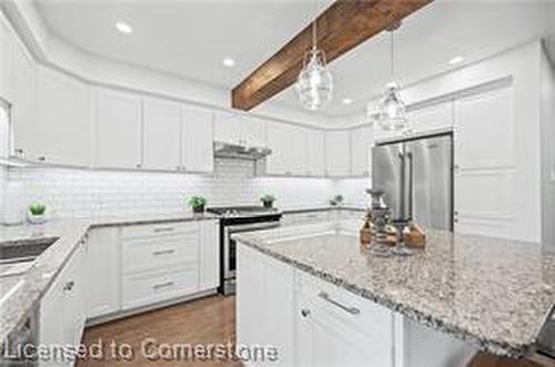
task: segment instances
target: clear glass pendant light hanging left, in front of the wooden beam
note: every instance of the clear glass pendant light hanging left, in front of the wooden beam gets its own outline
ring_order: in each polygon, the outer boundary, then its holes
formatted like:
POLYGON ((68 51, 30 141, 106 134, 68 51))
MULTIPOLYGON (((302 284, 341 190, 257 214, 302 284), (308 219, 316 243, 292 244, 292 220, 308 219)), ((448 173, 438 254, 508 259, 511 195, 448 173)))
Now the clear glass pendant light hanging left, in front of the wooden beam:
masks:
POLYGON ((312 22, 312 49, 304 55, 295 91, 301 103, 311 111, 322 109, 332 100, 333 79, 324 52, 316 47, 316 20, 312 22))

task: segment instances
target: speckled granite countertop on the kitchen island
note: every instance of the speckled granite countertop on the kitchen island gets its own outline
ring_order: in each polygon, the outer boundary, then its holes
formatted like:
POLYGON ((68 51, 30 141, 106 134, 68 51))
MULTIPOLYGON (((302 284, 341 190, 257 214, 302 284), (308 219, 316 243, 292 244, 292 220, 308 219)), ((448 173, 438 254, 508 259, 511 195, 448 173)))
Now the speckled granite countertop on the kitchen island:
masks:
POLYGON ((534 348, 555 303, 555 254, 534 243, 428 231, 425 251, 381 258, 360 249, 359 225, 234 237, 483 350, 518 358, 534 348))

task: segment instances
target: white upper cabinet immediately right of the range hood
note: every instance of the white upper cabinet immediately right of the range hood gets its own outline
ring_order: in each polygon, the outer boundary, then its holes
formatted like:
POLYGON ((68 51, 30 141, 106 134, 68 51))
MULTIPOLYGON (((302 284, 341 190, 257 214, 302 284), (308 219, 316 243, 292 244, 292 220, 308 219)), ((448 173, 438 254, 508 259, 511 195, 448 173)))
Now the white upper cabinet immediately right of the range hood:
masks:
POLYGON ((268 122, 266 172, 275 175, 306 175, 306 129, 281 122, 268 122))

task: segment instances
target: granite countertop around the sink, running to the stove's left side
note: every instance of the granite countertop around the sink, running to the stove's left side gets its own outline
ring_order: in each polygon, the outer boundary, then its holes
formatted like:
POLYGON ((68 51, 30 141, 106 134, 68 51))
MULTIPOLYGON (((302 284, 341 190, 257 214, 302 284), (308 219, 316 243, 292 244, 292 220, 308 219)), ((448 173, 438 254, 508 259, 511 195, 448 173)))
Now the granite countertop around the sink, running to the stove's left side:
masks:
POLYGON ((58 238, 21 275, 0 276, 0 341, 21 326, 39 304, 70 255, 92 227, 218 220, 212 214, 170 213, 59 220, 42 225, 0 226, 1 246, 58 238))

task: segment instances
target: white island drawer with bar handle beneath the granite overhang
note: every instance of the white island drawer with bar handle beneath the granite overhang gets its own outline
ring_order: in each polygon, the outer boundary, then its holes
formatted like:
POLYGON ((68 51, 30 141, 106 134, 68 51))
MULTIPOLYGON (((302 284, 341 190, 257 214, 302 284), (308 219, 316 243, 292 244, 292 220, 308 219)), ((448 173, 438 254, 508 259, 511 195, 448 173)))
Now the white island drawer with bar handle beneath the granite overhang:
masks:
MULTIPOLYGON (((300 273, 296 281, 301 299, 373 338, 392 335, 393 313, 372 300, 351 294, 314 276, 300 273), (380 333, 376 333, 376 332, 380 333)), ((389 339, 389 338, 387 338, 389 339)))

